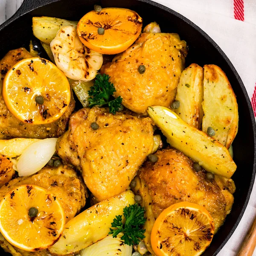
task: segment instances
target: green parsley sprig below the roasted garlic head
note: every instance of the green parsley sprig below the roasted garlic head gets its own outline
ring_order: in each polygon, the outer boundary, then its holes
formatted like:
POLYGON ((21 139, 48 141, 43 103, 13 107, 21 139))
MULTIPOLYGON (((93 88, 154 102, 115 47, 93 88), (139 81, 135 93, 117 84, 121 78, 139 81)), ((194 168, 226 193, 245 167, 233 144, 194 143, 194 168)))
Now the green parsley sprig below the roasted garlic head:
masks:
POLYGON ((114 99, 113 93, 116 92, 116 89, 109 79, 110 77, 106 74, 96 75, 94 85, 88 91, 89 96, 91 96, 88 98, 88 102, 90 108, 96 105, 107 105, 109 112, 115 114, 122 109, 122 98, 118 96, 114 99))

